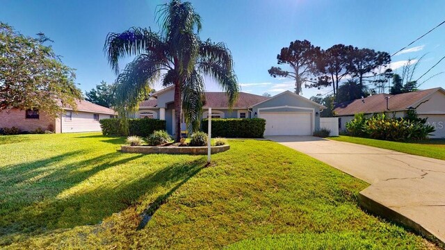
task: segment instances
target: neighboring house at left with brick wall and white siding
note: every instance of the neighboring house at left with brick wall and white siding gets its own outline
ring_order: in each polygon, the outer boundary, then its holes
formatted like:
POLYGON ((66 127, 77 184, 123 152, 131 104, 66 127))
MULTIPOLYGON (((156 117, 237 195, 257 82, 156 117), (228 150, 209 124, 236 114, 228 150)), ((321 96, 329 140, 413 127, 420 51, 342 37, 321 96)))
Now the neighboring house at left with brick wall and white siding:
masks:
POLYGON ((0 128, 17 127, 20 131, 42 130, 55 133, 101 131, 99 120, 115 116, 111 108, 99 106, 89 101, 76 101, 77 108, 63 108, 64 113, 57 118, 49 117, 40 110, 19 110, 11 108, 1 111, 0 128))

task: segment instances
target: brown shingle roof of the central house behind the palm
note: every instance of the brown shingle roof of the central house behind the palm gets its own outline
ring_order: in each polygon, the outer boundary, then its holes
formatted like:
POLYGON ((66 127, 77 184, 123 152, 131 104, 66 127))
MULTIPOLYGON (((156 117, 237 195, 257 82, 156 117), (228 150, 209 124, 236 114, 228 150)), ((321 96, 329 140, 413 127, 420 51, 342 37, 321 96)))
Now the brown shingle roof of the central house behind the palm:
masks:
MULTIPOLYGON (((161 92, 163 90, 160 90, 161 92)), ((156 93, 159 93, 156 92, 156 93)), ((155 93, 155 94, 156 94, 155 93)), ((265 101, 269 99, 268 97, 263 97, 257 94, 249 94, 245 92, 238 93, 238 100, 234 104, 233 108, 248 108, 256 103, 265 101)), ((149 99, 142 101, 140 107, 144 108, 156 108, 158 105, 157 99, 149 99)), ((229 100, 227 99, 227 94, 225 92, 206 92, 206 102, 204 103, 204 108, 228 108, 229 100)))

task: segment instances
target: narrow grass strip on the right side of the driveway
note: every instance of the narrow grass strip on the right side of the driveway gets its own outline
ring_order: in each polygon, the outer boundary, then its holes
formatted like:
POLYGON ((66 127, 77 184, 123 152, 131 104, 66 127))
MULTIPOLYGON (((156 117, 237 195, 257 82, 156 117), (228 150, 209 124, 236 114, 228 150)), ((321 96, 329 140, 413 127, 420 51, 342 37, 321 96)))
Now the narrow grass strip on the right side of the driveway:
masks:
POLYGON ((389 149, 403 153, 410 153, 416 156, 426 156, 445 160, 445 140, 431 139, 425 141, 413 142, 390 142, 385 140, 374 140, 368 138, 357 138, 353 136, 341 135, 339 137, 329 138, 339 142, 351 142, 363 144, 372 147, 379 147, 382 149, 389 149))

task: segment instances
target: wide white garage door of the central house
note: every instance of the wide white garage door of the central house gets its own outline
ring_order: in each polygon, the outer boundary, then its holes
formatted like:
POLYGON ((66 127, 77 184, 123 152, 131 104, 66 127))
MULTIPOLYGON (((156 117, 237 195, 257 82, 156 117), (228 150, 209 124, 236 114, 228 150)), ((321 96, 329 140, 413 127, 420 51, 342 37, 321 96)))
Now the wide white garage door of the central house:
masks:
POLYGON ((312 113, 260 113, 266 119, 264 135, 312 135, 312 113))

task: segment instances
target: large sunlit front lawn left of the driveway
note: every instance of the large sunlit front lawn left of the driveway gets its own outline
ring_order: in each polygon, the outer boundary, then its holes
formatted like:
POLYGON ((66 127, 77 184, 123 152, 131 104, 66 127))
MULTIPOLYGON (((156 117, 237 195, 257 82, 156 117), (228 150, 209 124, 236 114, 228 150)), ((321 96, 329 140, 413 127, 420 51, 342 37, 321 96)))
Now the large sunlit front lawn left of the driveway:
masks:
POLYGON ((120 153, 123 142, 0 137, 0 248, 431 247, 359 209, 366 183, 275 142, 229 140, 209 167, 206 156, 120 153))

